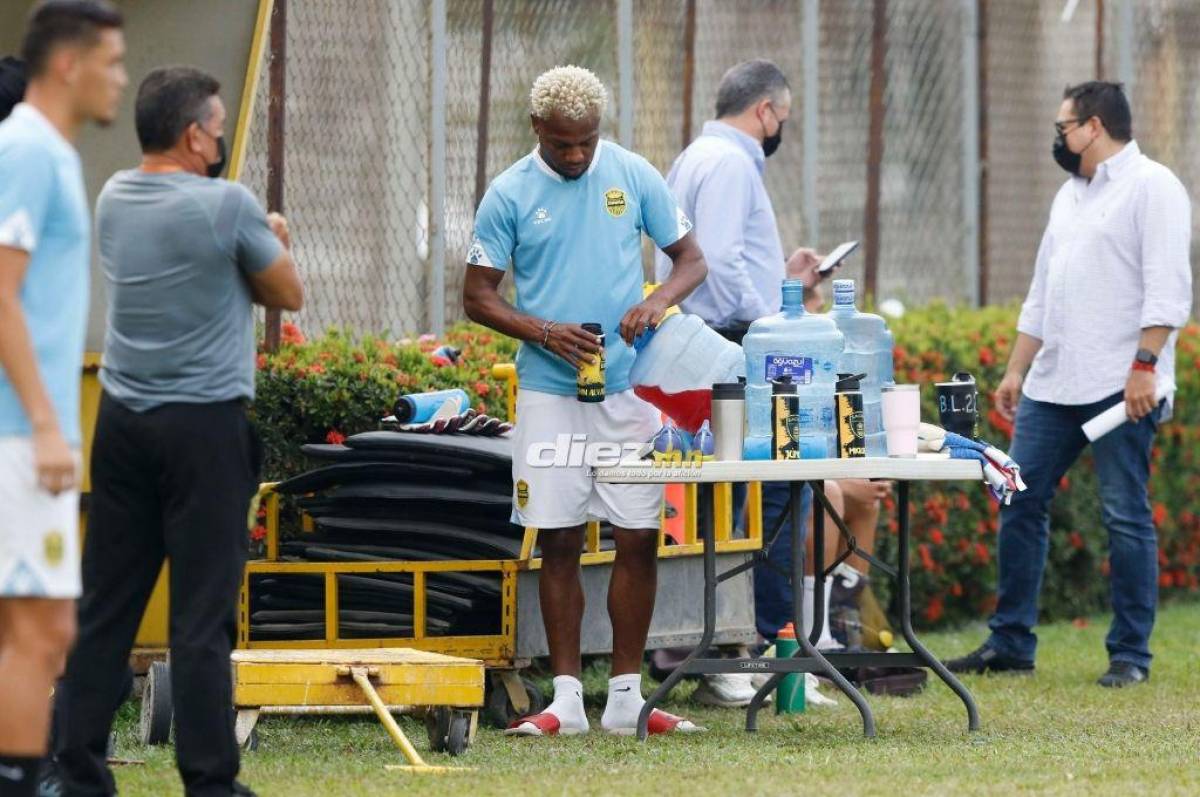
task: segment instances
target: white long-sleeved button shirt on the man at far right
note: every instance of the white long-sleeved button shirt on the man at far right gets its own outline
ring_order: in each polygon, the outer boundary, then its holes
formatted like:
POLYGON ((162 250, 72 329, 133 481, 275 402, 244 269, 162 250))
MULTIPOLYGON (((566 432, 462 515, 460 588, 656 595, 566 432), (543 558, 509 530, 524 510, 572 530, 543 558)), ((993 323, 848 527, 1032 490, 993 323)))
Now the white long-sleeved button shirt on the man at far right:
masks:
MULTIPOLYGON (((1042 341, 1025 395, 1088 405, 1124 389, 1141 330, 1178 329, 1192 312, 1192 205, 1183 184, 1129 142, 1070 178, 1050 208, 1018 330, 1042 341)), ((1175 391, 1172 332, 1158 358, 1175 391)))

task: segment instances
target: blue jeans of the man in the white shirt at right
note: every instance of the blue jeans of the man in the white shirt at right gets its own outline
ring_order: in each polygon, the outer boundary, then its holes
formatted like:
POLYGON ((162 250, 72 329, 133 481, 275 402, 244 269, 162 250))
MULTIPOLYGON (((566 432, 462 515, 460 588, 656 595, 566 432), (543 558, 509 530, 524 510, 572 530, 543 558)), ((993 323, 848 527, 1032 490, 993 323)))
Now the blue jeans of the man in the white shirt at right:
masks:
MULTIPOLYGON (((1000 653, 1033 660, 1050 499, 1087 445, 1081 424, 1122 398, 1116 394, 1082 406, 1021 398, 1010 454, 1021 466, 1028 490, 1016 493, 1000 514, 1000 585, 996 612, 988 621, 989 643, 1000 653)), ((1110 660, 1145 669, 1150 667, 1150 633, 1158 603, 1158 538, 1146 484, 1160 412, 1156 409, 1138 424, 1123 424, 1092 443, 1111 568, 1112 627, 1105 647, 1110 660)))

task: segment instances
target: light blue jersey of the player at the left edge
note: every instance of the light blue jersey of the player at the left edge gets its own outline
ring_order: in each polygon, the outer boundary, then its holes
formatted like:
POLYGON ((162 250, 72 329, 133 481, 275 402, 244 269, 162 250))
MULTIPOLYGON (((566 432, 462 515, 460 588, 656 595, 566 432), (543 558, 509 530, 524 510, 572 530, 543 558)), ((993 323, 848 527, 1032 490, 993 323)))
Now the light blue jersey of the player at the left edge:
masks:
MULTIPOLYGON (((0 124, 0 246, 29 252, 20 306, 62 436, 80 444, 79 379, 91 256, 79 155, 38 110, 0 124)), ((0 437, 28 437, 29 418, 0 368, 0 437)))

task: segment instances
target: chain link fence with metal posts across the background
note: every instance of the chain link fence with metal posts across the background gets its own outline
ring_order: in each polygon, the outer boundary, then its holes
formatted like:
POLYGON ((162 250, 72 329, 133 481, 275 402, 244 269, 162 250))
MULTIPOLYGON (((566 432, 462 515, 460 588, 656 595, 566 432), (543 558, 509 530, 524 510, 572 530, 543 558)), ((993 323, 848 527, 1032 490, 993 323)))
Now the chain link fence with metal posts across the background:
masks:
MULTIPOLYGON (((1192 188, 1198 52, 1194 0, 293 0, 283 167, 308 287, 299 320, 402 335, 434 326, 436 307, 460 319, 478 186, 532 149, 529 85, 559 64, 608 86, 607 137, 632 103, 632 149, 666 173, 712 119, 725 70, 775 61, 793 96, 767 168, 785 251, 872 235, 880 299, 1019 298, 1063 180, 1050 158, 1063 88, 1127 80, 1139 143, 1192 188), (619 90, 623 35, 632 97, 619 90)), ((268 90, 264 77, 244 174, 264 197, 268 90)), ((865 278, 865 262, 845 276, 865 278)))

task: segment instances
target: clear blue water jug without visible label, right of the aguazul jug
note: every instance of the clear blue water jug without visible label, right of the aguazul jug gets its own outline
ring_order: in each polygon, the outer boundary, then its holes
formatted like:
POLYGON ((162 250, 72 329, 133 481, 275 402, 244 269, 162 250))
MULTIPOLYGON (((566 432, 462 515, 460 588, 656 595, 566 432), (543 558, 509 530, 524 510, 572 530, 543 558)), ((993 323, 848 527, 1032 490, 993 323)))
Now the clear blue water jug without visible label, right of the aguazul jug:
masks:
POLYGON ((893 337, 880 316, 859 312, 854 281, 833 281, 833 310, 829 317, 846 336, 846 347, 838 364, 844 373, 865 373, 863 380, 863 419, 866 426, 866 455, 887 456, 883 432, 881 389, 894 382, 892 376, 893 337))

